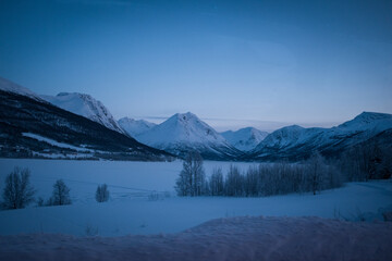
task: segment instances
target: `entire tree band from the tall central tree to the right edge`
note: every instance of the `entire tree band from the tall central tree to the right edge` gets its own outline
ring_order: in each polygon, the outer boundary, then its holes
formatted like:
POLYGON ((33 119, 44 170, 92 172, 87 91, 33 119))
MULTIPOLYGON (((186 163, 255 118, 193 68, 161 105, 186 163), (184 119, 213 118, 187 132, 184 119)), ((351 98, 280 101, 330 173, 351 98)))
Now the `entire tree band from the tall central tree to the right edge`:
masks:
POLYGON ((179 196, 262 197, 290 192, 317 194, 345 182, 387 179, 392 176, 392 147, 368 141, 345 149, 338 158, 315 152, 303 162, 261 163, 241 172, 215 169, 206 177, 203 158, 191 152, 175 183, 179 196))

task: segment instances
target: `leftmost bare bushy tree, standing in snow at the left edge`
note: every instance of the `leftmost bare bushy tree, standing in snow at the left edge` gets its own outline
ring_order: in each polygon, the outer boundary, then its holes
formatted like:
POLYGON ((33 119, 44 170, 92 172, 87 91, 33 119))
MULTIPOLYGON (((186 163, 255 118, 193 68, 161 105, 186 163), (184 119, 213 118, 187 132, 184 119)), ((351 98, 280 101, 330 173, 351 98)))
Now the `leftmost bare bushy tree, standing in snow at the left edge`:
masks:
POLYGON ((4 209, 23 209, 34 201, 35 189, 29 184, 28 169, 15 167, 5 177, 5 187, 2 194, 4 209))

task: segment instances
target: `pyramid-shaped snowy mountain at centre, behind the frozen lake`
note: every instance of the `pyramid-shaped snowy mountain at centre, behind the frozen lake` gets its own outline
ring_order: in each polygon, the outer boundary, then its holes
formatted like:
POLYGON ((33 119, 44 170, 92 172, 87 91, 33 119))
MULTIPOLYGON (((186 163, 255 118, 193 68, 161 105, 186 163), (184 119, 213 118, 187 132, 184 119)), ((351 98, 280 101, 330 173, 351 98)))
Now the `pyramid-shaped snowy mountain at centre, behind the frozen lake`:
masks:
POLYGON ((176 113, 136 138, 154 148, 181 157, 192 150, 197 150, 208 160, 233 160, 242 154, 212 127, 191 112, 176 113))

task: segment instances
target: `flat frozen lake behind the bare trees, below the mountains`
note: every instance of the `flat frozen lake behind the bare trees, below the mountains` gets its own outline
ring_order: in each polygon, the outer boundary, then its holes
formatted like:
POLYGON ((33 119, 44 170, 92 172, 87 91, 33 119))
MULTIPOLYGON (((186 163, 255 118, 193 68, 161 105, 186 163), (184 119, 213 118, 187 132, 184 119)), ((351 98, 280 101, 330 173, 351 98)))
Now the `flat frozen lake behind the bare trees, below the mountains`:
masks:
MULTIPOLYGON (((253 163, 205 161, 206 175, 215 167, 225 173, 231 164, 247 170, 253 163)), ((68 160, 17 160, 0 159, 0 181, 15 166, 30 170, 30 182, 37 188, 37 197, 48 198, 53 183, 62 178, 71 188, 74 203, 95 201, 95 191, 99 184, 108 184, 111 200, 151 191, 175 195, 174 185, 182 170, 182 161, 174 162, 132 162, 132 161, 68 161, 68 160)), ((0 184, 0 189, 3 187, 0 184)))

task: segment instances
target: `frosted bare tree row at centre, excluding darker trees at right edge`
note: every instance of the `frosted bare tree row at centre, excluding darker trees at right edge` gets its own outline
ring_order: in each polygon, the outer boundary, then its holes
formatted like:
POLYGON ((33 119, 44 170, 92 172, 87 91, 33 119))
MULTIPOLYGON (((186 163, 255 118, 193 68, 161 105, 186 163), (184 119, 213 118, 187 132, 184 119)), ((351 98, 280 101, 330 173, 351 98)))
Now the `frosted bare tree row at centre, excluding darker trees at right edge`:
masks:
POLYGON ((302 163, 265 163, 249 166, 245 172, 231 165, 225 175, 218 167, 208 178, 200 154, 191 152, 183 162, 175 190, 179 196, 191 197, 264 197, 308 191, 316 195, 341 187, 343 181, 339 167, 317 152, 302 163))

